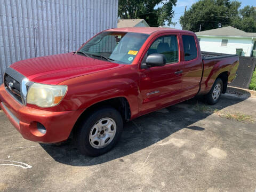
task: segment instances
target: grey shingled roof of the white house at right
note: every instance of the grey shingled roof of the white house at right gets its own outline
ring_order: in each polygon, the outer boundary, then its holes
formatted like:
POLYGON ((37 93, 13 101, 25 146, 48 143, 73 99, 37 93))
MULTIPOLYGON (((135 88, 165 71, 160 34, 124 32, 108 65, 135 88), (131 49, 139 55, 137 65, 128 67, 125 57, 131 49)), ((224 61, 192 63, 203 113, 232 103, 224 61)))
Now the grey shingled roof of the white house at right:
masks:
POLYGON ((221 27, 218 29, 205 30, 195 33, 197 36, 230 36, 230 37, 255 37, 256 33, 246 33, 235 27, 221 27))

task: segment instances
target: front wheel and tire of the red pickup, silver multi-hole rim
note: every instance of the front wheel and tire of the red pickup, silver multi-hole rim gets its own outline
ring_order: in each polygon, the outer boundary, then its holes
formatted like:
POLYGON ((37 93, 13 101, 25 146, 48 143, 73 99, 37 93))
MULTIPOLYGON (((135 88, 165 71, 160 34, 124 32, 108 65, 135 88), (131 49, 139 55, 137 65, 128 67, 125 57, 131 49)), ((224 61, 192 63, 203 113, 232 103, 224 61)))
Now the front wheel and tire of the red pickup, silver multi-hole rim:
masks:
POLYGON ((82 154, 99 156, 111 150, 121 137, 123 118, 112 107, 103 107, 84 119, 75 131, 75 141, 82 154))

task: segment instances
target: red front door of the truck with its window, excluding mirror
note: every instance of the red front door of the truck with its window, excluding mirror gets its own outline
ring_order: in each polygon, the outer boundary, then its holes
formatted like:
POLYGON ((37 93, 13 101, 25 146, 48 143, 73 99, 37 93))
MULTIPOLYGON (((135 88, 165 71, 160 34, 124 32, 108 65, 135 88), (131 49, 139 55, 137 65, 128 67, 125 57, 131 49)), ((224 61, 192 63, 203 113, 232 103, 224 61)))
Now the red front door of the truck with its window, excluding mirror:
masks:
POLYGON ((140 115, 171 105, 180 99, 182 68, 179 55, 179 36, 165 34, 155 37, 141 63, 152 53, 166 57, 166 65, 140 69, 140 115))

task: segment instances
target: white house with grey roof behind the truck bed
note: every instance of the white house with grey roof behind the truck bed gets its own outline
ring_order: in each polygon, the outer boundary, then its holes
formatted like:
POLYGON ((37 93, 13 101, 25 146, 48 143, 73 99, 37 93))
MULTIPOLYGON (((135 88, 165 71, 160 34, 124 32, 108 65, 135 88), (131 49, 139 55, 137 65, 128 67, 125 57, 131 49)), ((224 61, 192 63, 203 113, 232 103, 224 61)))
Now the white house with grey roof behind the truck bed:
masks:
POLYGON ((201 51, 236 54, 243 49, 242 55, 251 57, 256 50, 256 33, 246 33, 234 27, 221 27, 196 33, 201 51))

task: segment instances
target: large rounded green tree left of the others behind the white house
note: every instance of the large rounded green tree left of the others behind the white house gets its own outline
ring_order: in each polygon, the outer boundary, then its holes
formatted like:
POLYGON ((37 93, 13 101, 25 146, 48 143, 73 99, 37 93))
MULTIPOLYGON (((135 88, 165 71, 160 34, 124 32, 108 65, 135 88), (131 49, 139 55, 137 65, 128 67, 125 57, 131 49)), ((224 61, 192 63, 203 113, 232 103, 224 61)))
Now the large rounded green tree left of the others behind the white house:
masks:
POLYGON ((185 30, 199 31, 223 27, 238 15, 240 2, 230 0, 201 0, 194 3, 180 18, 185 30))

